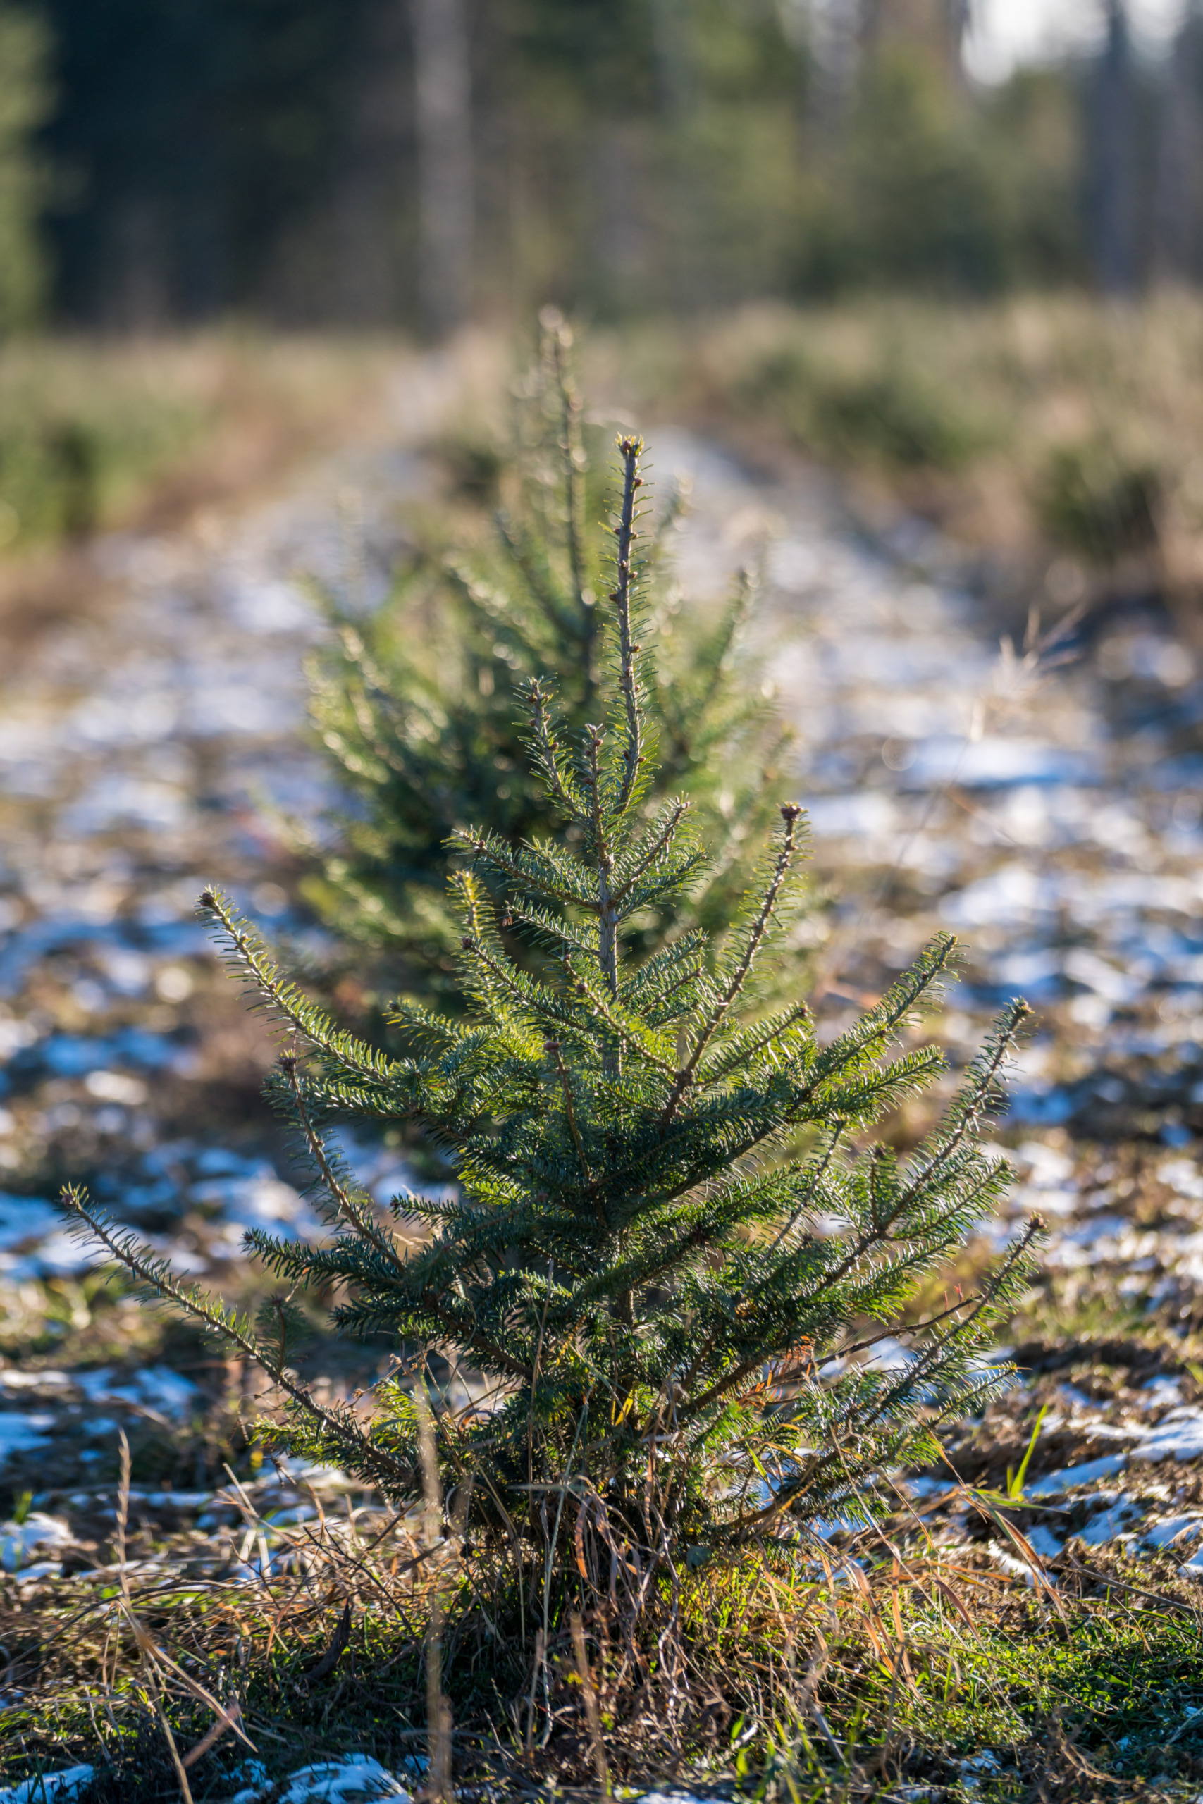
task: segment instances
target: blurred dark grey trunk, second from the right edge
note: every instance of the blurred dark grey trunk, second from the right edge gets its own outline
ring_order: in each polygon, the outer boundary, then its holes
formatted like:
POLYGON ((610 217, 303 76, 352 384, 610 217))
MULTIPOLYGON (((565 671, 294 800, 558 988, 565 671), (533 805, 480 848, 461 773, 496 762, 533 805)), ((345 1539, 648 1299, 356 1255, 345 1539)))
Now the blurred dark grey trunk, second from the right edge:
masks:
POLYGON ((1104 294, 1140 285, 1136 231, 1140 119, 1133 45, 1124 0, 1107 0, 1107 38, 1088 108, 1088 229, 1095 278, 1104 294))

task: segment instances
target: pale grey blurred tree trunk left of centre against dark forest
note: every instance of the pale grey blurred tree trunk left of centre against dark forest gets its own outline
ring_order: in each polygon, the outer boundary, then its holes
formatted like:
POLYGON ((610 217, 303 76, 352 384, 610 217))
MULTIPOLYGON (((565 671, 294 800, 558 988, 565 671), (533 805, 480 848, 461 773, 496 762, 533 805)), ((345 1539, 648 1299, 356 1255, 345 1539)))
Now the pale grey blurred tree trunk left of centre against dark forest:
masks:
POLYGON ((473 78, 465 0, 411 0, 418 139, 418 303, 431 337, 473 292, 473 78))

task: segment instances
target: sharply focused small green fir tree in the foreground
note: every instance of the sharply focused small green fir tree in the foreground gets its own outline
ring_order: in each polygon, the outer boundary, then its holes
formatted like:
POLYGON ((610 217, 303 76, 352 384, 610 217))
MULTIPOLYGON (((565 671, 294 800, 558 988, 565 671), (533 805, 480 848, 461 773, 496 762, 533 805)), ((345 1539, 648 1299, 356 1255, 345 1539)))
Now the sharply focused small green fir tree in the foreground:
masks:
POLYGON ((1003 1010, 922 1146, 904 1158, 875 1140, 873 1126, 943 1068, 936 1048, 900 1039, 954 942, 932 940, 830 1045, 803 1001, 767 1008, 763 974, 804 850, 795 803, 779 808, 712 956, 698 927, 631 956, 640 918, 673 909, 703 851, 684 797, 644 812, 653 673, 635 557, 640 444, 619 449, 597 720, 568 734, 548 686, 527 693, 528 756, 561 828, 518 848, 482 828, 458 835, 464 1012, 397 1003, 406 1052, 388 1057, 289 983, 222 897, 202 897, 298 1048, 271 1091, 316 1169, 328 1241, 249 1232, 247 1250, 285 1286, 254 1330, 85 1194, 65 1194, 148 1292, 271 1375, 285 1394, 281 1418, 262 1425, 274 1445, 413 1503, 429 1398, 447 1533, 492 1550, 521 1611, 534 1588, 545 1629, 581 1593, 622 1584, 635 1609, 651 1607, 657 1573, 682 1562, 804 1542, 831 1512, 871 1515, 884 1474, 934 1458, 940 1425, 1005 1382, 981 1349, 1037 1234, 1033 1223, 978 1293, 914 1317, 920 1288, 1008 1182, 976 1128, 997 1104, 1026 1010, 1003 1010), (500 909, 543 949, 537 972, 507 953, 500 909), (456 1194, 402 1194, 391 1218, 379 1210, 326 1142, 348 1115, 420 1126, 455 1165, 456 1194), (426 1234, 402 1239, 395 1223, 426 1234), (368 1420, 316 1400, 292 1367, 285 1299, 305 1288, 334 1295, 339 1333, 384 1335, 404 1360, 368 1420), (860 1362, 887 1335, 907 1337, 909 1360, 860 1362), (471 1407, 440 1393, 435 1355, 473 1376, 471 1407))

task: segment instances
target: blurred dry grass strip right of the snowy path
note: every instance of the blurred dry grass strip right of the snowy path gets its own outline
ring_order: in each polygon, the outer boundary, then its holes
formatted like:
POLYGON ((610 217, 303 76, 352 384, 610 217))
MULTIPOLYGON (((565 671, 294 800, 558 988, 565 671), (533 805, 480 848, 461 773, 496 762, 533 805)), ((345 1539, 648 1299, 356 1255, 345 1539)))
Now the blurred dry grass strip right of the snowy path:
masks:
POLYGON ((1198 294, 754 307, 593 355, 631 404, 837 465, 877 520, 905 509, 1024 574, 1051 563, 1055 599, 1116 566, 1203 586, 1198 294))

